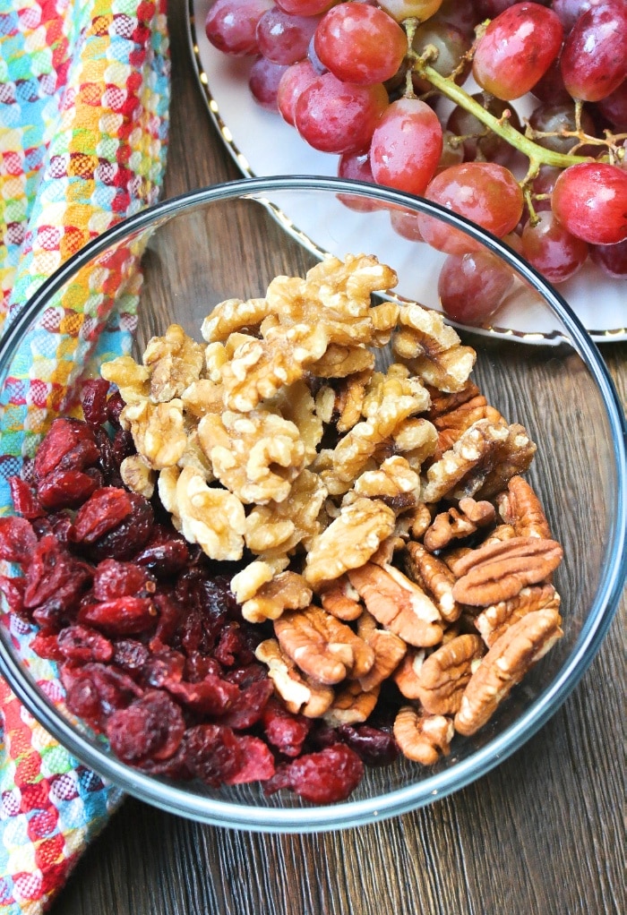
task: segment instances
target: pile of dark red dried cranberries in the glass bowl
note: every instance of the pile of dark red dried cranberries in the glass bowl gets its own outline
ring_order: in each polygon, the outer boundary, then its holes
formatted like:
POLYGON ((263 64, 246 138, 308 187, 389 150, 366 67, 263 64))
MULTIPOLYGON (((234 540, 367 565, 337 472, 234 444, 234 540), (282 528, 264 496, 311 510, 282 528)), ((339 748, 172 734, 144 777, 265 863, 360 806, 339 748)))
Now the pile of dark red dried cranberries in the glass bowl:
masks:
POLYGON ((243 619, 233 564, 189 545, 157 495, 124 488, 135 446, 123 406, 109 382, 87 382, 84 419, 56 419, 11 478, 17 515, 0 519, 0 559, 23 571, 0 576, 11 612, 38 625, 33 649, 59 664, 70 712, 125 763, 343 800, 364 762, 395 759, 391 724, 334 729, 276 701, 254 656, 268 631, 243 619))

